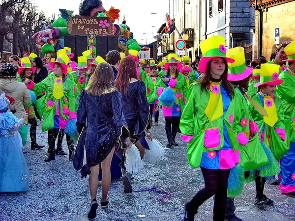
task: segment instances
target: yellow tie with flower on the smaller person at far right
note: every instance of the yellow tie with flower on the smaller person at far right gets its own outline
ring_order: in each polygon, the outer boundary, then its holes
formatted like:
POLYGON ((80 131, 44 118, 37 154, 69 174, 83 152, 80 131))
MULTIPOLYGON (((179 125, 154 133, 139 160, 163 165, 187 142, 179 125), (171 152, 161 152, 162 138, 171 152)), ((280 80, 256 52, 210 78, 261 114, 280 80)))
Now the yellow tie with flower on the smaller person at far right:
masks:
POLYGON ((263 116, 264 122, 270 127, 273 127, 274 124, 278 121, 278 114, 273 99, 271 96, 265 96, 261 92, 259 92, 259 94, 263 97, 264 108, 268 115, 263 116))

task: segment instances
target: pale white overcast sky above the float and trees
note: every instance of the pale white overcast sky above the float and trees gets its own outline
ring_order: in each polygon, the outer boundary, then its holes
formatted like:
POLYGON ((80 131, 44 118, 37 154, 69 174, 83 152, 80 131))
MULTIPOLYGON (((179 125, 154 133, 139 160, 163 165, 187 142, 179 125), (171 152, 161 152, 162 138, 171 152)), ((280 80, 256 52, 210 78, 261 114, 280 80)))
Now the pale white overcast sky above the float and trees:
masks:
MULTIPOLYGON (((75 14, 78 14, 81 2, 81 0, 33 1, 45 15, 52 18, 51 15, 55 14, 56 19, 58 18, 59 8, 73 10, 75 14)), ((169 0, 102 0, 102 2, 106 10, 109 10, 111 6, 121 10, 119 24, 122 23, 125 15, 126 25, 130 27, 139 44, 145 44, 146 39, 148 43, 154 41, 152 32, 155 36, 158 28, 165 23, 165 14, 169 11, 169 0), (151 12, 157 14, 152 15, 151 12), (152 26, 155 26, 155 28, 152 28, 152 26)), ((115 24, 118 24, 118 20, 115 21, 115 24)))

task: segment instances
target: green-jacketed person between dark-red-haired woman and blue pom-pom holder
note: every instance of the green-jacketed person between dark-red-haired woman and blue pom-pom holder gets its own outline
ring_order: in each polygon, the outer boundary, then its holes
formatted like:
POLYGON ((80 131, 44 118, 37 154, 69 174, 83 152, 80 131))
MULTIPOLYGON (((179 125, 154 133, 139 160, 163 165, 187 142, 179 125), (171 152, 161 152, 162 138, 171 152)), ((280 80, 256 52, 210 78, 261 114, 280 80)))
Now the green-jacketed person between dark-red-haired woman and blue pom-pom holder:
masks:
MULTIPOLYGON (((147 89, 147 98, 148 98, 148 104, 149 104, 149 114, 152 117, 154 115, 155 120, 155 126, 158 126, 158 118, 159 118, 159 109, 158 106, 158 97, 155 93, 155 85, 157 82, 161 81, 161 78, 158 75, 158 65, 155 63, 154 60, 149 61, 149 69, 151 71, 150 76, 146 78, 144 81, 146 84, 147 89)), ((152 122, 151 122, 152 123, 152 122)))

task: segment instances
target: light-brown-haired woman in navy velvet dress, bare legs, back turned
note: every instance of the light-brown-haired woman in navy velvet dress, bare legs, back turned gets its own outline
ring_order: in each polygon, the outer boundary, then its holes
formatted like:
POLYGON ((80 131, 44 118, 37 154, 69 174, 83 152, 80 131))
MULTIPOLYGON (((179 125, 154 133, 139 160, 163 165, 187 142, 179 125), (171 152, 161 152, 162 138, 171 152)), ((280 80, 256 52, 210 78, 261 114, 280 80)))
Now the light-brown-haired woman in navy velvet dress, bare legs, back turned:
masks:
POLYGON ((111 184, 111 162, 115 148, 121 148, 122 138, 131 147, 129 131, 121 106, 121 94, 112 86, 114 73, 108 63, 97 65, 92 82, 81 91, 77 111, 77 131, 80 134, 74 156, 83 165, 82 178, 89 175, 91 204, 88 218, 96 217, 99 165, 102 168, 101 206, 109 204, 107 194, 111 184), (86 152, 85 152, 86 151, 86 152), (84 164, 84 153, 86 163, 84 164))

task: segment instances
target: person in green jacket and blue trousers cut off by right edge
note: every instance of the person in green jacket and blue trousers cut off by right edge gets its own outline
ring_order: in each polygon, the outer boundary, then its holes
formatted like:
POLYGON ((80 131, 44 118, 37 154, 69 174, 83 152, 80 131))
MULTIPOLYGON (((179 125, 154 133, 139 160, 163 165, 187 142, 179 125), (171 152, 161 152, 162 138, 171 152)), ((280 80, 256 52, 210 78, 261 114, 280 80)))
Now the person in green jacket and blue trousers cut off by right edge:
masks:
POLYGON ((295 197, 295 42, 286 46, 284 52, 288 56, 288 59, 284 60, 288 62, 288 66, 279 75, 283 83, 277 86, 277 94, 284 105, 286 143, 290 150, 280 160, 282 168, 280 188, 282 193, 295 197))

